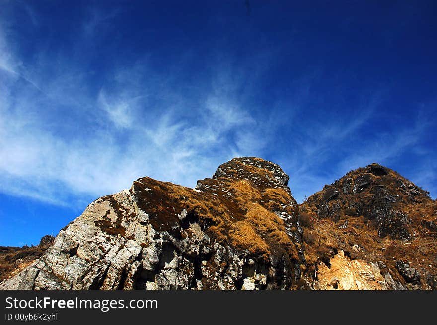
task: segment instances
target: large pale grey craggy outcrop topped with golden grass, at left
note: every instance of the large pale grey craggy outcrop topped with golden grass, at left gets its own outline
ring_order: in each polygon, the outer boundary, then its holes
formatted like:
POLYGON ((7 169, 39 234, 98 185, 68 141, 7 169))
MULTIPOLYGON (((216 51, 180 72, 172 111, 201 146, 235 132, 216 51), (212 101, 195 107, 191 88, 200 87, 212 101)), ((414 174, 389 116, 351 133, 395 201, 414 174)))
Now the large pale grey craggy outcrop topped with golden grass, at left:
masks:
POLYGON ((138 179, 92 202, 0 289, 311 288, 288 180, 258 158, 232 159, 195 189, 138 179))

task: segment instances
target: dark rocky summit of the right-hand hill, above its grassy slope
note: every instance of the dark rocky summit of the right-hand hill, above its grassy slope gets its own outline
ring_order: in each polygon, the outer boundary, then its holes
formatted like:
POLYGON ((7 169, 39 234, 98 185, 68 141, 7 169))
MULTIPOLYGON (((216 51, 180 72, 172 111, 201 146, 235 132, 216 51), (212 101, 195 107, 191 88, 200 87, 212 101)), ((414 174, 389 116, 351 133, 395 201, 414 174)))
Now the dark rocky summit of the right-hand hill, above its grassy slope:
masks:
POLYGON ((405 206, 431 201, 427 192, 395 171, 373 163, 350 171, 308 198, 320 218, 335 222, 364 216, 373 222, 380 237, 410 239, 405 206))

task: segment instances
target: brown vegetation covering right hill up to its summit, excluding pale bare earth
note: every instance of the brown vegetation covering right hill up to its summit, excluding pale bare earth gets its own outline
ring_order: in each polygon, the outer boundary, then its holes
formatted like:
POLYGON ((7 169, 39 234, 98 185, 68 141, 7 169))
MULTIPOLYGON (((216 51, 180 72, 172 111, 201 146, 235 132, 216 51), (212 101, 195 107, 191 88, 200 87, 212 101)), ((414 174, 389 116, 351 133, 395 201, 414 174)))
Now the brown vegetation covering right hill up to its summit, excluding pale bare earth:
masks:
MULTIPOLYGON (((351 259, 382 261, 391 270, 397 260, 407 260, 416 269, 437 274, 437 202, 396 172, 383 168, 386 174, 374 175, 369 168, 349 172, 301 204, 305 256, 311 262, 329 265, 342 250, 351 259), (362 175, 368 184, 353 193, 362 175), (400 219, 402 223, 392 227, 405 228, 411 238, 379 236, 379 227, 391 221, 378 221, 376 217, 384 216, 373 216, 372 209, 406 216, 406 223, 400 219)), ((395 277, 395 272, 392 275, 395 277)))

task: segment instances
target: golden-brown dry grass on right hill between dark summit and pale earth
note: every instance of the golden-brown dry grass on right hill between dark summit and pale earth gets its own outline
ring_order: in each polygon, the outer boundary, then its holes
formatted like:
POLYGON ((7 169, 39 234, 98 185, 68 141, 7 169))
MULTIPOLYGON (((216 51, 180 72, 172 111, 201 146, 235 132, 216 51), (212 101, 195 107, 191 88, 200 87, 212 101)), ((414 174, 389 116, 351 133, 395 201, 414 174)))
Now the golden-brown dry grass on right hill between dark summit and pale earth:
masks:
MULTIPOLYGON (((382 260, 395 268, 396 260, 408 260, 413 267, 432 270, 437 267, 437 259, 433 260, 437 242, 433 232, 421 227, 422 220, 435 219, 437 207, 435 203, 418 204, 409 208, 411 227, 416 229, 415 236, 408 242, 379 238, 375 225, 364 217, 348 217, 348 225, 340 229, 339 223, 311 216, 311 227, 303 226, 305 257, 309 263, 329 260, 336 250, 348 252, 353 258, 367 261, 382 260), (352 249, 358 244, 360 251, 352 249)), ((308 211, 306 211, 308 213, 308 211)), ((406 212, 406 211, 405 211, 406 212)), ((309 215, 310 212, 308 213, 309 215)))

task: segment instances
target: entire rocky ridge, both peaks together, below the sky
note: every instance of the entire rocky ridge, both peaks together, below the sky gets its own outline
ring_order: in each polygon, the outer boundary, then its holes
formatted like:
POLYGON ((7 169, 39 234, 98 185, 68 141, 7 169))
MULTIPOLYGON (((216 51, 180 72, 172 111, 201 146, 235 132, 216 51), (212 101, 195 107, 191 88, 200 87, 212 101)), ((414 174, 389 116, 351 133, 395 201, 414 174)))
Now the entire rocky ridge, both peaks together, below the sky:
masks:
MULTIPOLYGON (((195 189, 140 178, 14 259, 0 289, 437 289, 426 191, 371 164, 299 207, 288 181, 259 158, 232 159, 195 189)), ((21 252, 3 249, 3 260, 21 252)))

